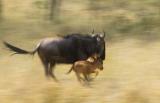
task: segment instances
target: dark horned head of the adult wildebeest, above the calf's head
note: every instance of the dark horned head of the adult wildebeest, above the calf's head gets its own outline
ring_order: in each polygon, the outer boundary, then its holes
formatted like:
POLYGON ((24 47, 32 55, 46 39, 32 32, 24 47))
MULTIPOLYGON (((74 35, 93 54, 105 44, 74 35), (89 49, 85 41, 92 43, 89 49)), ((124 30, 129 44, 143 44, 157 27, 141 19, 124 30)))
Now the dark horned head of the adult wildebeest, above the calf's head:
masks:
POLYGON ((92 37, 97 41, 97 53, 100 55, 102 60, 105 59, 105 32, 103 33, 94 33, 92 32, 92 37))

